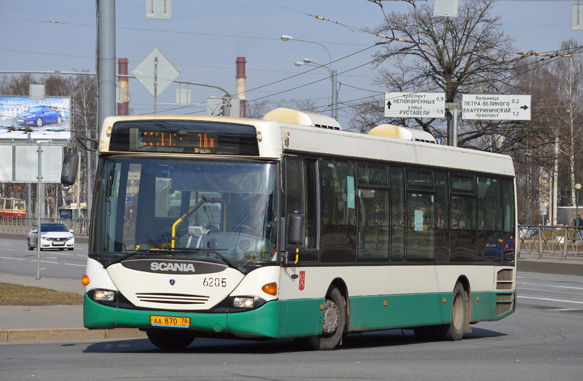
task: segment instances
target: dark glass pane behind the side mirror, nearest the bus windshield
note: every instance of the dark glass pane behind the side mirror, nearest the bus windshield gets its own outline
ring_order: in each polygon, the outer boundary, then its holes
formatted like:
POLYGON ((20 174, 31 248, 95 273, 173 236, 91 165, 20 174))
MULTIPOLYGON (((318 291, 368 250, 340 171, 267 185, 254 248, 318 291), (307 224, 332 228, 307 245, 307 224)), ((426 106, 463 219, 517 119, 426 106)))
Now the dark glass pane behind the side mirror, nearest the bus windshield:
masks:
POLYGON ((293 209, 300 209, 305 216, 305 242, 300 245, 304 250, 300 250, 299 260, 317 261, 315 162, 288 157, 285 169, 286 218, 293 209))

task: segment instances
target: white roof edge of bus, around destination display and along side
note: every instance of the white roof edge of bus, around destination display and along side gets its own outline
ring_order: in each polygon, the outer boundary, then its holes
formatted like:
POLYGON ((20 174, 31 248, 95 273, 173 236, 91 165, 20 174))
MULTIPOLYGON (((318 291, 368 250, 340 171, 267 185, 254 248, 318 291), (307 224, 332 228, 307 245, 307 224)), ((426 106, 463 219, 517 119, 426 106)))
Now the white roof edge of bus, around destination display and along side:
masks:
MULTIPOLYGON (((110 152, 109 142, 113 124, 117 121, 125 120, 198 120, 252 125, 257 130, 259 158, 280 159, 285 152, 304 152, 314 155, 338 155, 362 160, 382 160, 407 165, 444 167, 460 171, 468 170, 514 176, 514 166, 510 156, 498 153, 278 121, 222 116, 143 115, 107 117, 104 120, 103 128, 101 128, 100 153, 110 152)), ((124 154, 124 152, 115 153, 124 154)), ((132 154, 218 157, 217 155, 186 155, 160 152, 132 152, 132 154)))

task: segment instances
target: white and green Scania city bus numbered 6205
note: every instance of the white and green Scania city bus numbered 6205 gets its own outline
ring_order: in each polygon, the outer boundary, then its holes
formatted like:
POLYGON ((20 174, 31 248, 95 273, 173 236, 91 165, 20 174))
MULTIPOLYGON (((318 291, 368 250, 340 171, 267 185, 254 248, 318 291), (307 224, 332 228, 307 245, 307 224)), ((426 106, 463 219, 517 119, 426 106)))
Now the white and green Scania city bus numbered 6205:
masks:
POLYGON ((289 109, 108 117, 93 205, 85 327, 137 327, 160 348, 459 340, 514 312, 511 158, 423 131, 289 109))

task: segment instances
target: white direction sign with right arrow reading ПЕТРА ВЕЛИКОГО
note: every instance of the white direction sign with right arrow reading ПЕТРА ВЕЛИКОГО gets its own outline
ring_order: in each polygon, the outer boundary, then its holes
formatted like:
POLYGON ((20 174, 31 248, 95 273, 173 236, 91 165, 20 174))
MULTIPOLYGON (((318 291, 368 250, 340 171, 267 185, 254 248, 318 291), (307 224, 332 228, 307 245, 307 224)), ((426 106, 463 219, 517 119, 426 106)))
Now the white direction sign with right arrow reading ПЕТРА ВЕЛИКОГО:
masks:
POLYGON ((462 118, 466 120, 531 120, 531 96, 463 94, 462 118))

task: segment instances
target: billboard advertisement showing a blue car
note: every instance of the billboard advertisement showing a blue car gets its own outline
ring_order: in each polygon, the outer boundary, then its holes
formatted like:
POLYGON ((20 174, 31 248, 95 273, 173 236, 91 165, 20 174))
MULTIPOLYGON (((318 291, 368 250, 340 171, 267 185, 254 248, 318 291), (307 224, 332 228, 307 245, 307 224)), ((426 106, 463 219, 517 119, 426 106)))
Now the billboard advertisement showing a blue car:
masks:
POLYGON ((71 138, 71 98, 0 96, 0 139, 71 138))

